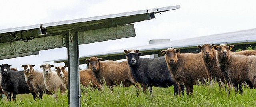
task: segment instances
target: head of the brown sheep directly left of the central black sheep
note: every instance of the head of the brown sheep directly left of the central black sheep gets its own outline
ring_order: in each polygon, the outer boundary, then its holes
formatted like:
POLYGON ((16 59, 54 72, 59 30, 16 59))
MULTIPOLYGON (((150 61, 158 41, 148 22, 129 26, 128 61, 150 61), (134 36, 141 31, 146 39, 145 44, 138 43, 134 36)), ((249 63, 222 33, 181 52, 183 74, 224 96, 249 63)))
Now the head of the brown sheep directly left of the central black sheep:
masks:
POLYGON ((90 59, 86 59, 87 63, 89 63, 90 69, 94 72, 100 69, 99 62, 101 60, 102 58, 98 58, 98 57, 91 57, 90 59))

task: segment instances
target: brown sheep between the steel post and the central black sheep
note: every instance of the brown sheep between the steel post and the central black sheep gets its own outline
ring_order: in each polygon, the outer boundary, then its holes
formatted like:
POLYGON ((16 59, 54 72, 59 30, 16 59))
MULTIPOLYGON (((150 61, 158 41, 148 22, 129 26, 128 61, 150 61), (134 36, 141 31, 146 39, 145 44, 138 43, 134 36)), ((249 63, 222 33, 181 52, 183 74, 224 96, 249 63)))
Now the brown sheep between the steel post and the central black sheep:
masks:
MULTIPOLYGON (((86 59, 90 65, 90 69, 94 72, 98 80, 105 79, 106 85, 112 87, 120 85, 129 87, 136 85, 130 73, 130 68, 127 61, 101 61, 101 58, 91 57, 86 59)), ((102 83, 102 82, 101 82, 102 83)))

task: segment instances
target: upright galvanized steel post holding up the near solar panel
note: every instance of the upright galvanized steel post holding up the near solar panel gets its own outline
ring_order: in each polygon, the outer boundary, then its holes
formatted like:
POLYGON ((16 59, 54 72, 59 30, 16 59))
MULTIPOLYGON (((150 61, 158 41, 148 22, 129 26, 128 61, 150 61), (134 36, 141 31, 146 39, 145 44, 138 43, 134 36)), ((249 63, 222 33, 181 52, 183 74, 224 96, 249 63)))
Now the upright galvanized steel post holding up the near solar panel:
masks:
POLYGON ((68 104, 81 107, 78 31, 68 31, 66 38, 68 48, 68 104))

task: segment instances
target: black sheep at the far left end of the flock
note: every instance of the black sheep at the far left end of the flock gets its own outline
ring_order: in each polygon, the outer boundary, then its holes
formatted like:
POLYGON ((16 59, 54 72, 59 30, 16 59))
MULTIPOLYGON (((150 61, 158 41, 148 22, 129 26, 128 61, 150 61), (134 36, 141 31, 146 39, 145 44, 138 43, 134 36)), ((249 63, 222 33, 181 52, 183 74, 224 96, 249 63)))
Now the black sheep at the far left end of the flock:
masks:
MULTIPOLYGON (((4 93, 6 93, 8 101, 16 100, 17 94, 28 94, 30 93, 29 87, 25 81, 23 71, 10 70, 8 64, 2 64, 1 67, 1 87, 4 93), (12 96, 12 98, 11 98, 12 96)), ((31 92, 33 98, 36 98, 34 92, 31 92)))

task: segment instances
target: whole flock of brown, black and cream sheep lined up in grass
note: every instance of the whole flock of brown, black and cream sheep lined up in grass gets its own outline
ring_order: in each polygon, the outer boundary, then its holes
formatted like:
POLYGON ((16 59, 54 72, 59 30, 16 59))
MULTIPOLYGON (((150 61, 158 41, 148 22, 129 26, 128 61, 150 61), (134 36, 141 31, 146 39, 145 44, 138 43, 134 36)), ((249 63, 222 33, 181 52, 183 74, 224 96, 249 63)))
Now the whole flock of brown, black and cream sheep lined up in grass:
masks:
MULTIPOLYGON (((115 85, 149 90, 152 87, 174 86, 174 95, 193 93, 193 85, 207 84, 207 80, 216 80, 220 87, 224 83, 235 87, 242 94, 242 85, 256 87, 256 51, 232 52, 234 45, 204 44, 198 45, 200 53, 179 53, 180 49, 162 50, 164 56, 157 58, 140 58, 139 50, 124 50, 127 61, 101 61, 101 58, 86 59, 90 69, 80 71, 80 83, 85 87, 101 90, 105 82, 112 89, 115 85), (104 81, 102 81, 104 80, 104 81), (199 82, 200 80, 200 82, 199 82), (141 87, 140 87, 140 86, 141 87)), ((43 72, 33 69, 35 65, 22 65, 23 71, 2 64, 0 94, 7 99, 16 100, 17 94, 31 93, 34 99, 42 99, 42 95, 57 97, 57 91, 65 93, 68 89, 68 71, 65 66, 54 67, 44 64, 43 72), (56 69, 52 71, 51 67, 56 69), (12 98, 11 98, 12 96, 12 98)), ((226 86, 226 85, 225 85, 226 86)), ((138 93, 137 93, 138 95, 138 93)))

